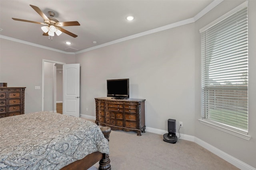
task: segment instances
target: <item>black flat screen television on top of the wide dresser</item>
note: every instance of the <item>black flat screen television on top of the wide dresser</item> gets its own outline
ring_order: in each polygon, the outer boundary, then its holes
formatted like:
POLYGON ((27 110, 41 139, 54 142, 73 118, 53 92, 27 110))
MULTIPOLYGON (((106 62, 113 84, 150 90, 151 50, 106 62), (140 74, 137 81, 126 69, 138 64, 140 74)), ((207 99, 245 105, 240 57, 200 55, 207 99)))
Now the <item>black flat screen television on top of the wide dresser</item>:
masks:
POLYGON ((129 98, 129 78, 107 80, 107 96, 129 98))

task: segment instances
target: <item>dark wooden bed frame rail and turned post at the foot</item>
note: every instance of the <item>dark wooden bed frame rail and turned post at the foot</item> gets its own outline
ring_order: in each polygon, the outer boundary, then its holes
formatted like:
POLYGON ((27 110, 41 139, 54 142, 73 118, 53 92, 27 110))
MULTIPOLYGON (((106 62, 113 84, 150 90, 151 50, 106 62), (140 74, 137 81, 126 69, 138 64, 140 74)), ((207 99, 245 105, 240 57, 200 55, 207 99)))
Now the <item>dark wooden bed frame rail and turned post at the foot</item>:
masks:
MULTIPOLYGON (((109 133, 102 131, 106 139, 109 137, 109 133)), ((94 164, 99 162, 99 170, 111 170, 110 159, 108 154, 101 153, 99 151, 88 154, 84 158, 72 162, 67 166, 61 168, 61 170, 88 170, 94 164)))

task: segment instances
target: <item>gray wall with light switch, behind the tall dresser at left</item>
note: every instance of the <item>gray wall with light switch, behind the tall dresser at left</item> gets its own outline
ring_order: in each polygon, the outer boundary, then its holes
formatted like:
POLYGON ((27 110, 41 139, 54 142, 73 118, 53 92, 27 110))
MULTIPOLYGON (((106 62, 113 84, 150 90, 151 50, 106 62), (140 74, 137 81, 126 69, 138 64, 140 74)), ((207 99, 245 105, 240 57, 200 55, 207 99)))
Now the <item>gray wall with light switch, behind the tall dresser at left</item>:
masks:
POLYGON ((42 109, 42 60, 75 63, 75 56, 0 38, 0 82, 26 87, 25 113, 42 109), (35 90, 40 86, 40 90, 35 90))

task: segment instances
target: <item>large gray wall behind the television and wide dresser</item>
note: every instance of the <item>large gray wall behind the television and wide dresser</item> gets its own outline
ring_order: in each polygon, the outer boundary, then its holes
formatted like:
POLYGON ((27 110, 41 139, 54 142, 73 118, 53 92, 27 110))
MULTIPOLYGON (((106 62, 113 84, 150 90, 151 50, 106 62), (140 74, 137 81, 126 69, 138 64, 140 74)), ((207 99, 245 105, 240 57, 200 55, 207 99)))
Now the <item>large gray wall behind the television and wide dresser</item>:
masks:
POLYGON ((95 116, 94 98, 106 97, 107 79, 129 78, 130 98, 146 99, 147 127, 167 130, 176 119, 194 136, 193 23, 77 54, 76 63, 81 114, 95 116))

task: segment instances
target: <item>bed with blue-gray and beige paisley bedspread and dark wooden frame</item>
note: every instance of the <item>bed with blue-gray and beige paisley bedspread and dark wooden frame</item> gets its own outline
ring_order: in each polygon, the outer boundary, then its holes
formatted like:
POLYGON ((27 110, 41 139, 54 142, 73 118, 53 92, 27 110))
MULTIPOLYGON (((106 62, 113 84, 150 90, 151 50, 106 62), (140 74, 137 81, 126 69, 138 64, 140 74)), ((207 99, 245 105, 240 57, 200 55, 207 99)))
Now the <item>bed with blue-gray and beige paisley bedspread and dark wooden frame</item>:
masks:
POLYGON ((1 170, 110 170, 108 140, 91 121, 54 112, 0 119, 1 170))

